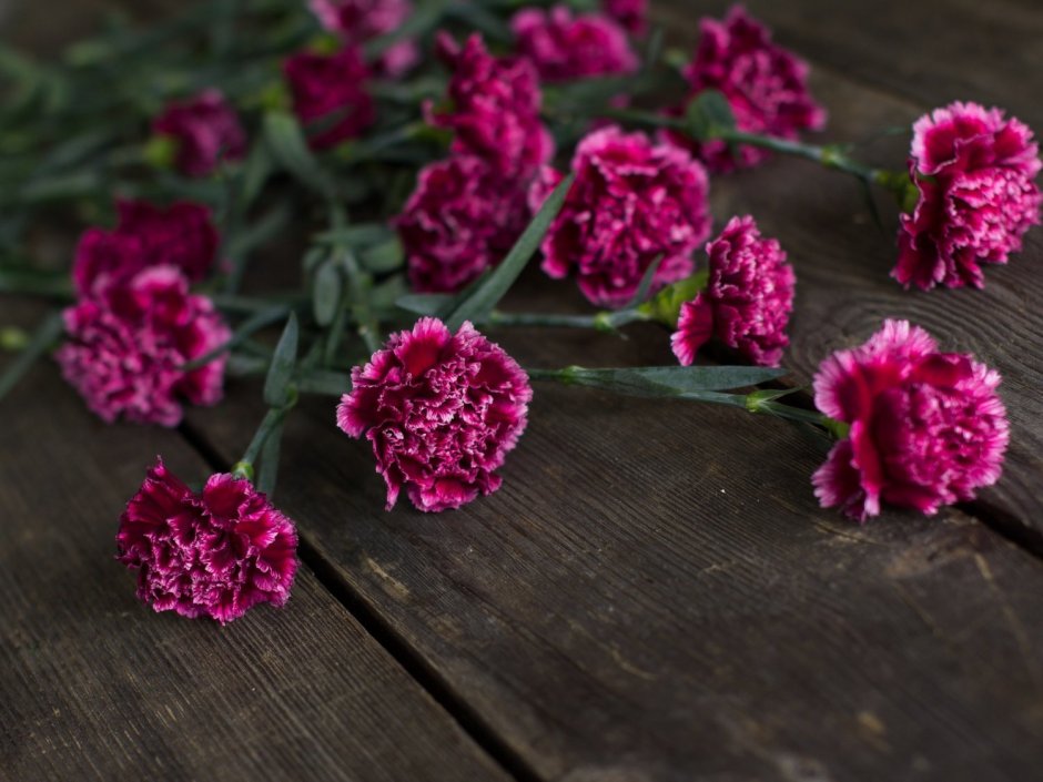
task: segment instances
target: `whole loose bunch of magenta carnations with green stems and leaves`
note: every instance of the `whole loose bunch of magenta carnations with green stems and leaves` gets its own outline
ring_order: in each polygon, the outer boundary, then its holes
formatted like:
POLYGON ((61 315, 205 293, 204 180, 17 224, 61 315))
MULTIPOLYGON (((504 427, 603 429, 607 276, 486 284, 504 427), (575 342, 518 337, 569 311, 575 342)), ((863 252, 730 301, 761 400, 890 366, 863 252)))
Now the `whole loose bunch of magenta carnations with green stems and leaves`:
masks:
POLYGON ((62 302, 36 334, 0 332, 20 353, 0 396, 53 351, 94 415, 173 427, 227 376, 264 378, 269 412, 227 473, 194 490, 160 460, 120 519, 118 558, 158 611, 285 603, 297 537, 271 496, 306 394, 368 440, 388 509, 500 489, 534 383, 809 427, 833 440, 816 496, 861 521, 1000 478, 999 374, 915 325, 823 356, 810 393, 787 383, 784 242, 756 215, 715 228, 708 200, 716 176, 804 158, 893 194, 897 284, 981 287, 1040 222, 1037 145, 999 109, 939 108, 904 167, 875 169, 801 140, 827 119, 808 68, 742 8, 679 52, 645 0, 202 3, 57 64, 4 51, 0 74, 0 291, 62 302), (44 220, 89 225, 59 270, 32 257, 44 220), (259 290, 251 261, 287 232, 303 282, 259 290), (590 311, 502 308, 534 258, 590 311), (675 365, 522 367, 489 337, 636 322, 662 327, 675 365))

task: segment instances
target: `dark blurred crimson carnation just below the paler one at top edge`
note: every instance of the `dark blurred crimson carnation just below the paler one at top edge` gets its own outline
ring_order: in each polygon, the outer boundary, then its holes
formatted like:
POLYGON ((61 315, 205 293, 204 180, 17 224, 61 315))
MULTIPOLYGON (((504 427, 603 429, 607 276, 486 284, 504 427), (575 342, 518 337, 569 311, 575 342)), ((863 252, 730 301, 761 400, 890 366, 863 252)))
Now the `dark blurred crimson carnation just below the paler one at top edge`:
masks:
POLYGON ((369 71, 358 49, 335 54, 301 52, 283 63, 293 110, 307 131, 313 150, 327 150, 365 132, 376 118, 366 91, 369 71))

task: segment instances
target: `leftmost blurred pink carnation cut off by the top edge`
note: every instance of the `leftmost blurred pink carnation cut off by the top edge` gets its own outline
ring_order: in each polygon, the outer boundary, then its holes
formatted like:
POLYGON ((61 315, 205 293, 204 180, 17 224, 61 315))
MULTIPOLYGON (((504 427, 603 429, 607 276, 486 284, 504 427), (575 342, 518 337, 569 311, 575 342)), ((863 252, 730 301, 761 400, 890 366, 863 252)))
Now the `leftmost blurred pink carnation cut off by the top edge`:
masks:
MULTIPOLYGON (((324 28, 340 33, 352 45, 361 45, 397 30, 413 13, 409 0, 310 0, 312 12, 324 28)), ((382 74, 399 77, 419 60, 416 42, 399 41, 374 63, 382 74)))

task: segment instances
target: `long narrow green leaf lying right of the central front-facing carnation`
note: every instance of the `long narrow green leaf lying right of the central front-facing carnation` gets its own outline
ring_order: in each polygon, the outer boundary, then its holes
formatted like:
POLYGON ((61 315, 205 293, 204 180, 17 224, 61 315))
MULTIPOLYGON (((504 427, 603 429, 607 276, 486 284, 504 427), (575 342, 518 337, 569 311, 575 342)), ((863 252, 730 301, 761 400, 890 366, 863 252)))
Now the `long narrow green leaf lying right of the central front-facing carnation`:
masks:
MULTIPOLYGON (((682 397, 756 386, 786 375, 784 369, 750 366, 652 366, 620 369, 568 367, 558 373, 567 385, 588 386, 628 396, 682 397)), ((536 375, 537 379, 539 374, 536 375)), ((743 397, 745 398, 745 397, 743 397)))

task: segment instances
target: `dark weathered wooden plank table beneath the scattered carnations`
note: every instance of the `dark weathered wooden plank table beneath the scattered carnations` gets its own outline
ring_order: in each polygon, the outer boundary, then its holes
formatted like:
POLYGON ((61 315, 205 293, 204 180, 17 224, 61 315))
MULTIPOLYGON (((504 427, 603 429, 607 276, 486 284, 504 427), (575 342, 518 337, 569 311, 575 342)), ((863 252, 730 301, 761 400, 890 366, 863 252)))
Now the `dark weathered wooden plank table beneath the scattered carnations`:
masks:
MULTIPOLYGON (((47 50, 95 4, 27 2, 8 35, 47 50)), ((726 6, 654 4, 683 45, 726 6)), ((823 140, 954 99, 1043 132, 1037 0, 748 8, 812 63, 823 140)), ((867 154, 893 166, 907 144, 867 154)), ((859 527, 818 508, 821 447, 782 422, 539 386, 503 490, 385 514, 366 444, 310 402, 279 490, 302 536, 293 598, 221 628, 138 603, 113 535, 153 455, 227 468, 257 388, 232 383, 176 431, 108 427, 45 363, 0 425, 0 779, 1039 779, 1043 230, 984 291, 905 293, 893 210, 875 230, 847 177, 774 160, 712 191, 718 225, 752 213, 796 264, 798 383, 885 316, 1003 373, 999 486, 859 527)), ((515 302, 575 301, 538 282, 515 302)), ((529 365, 671 360, 661 331, 630 336, 495 335, 529 365)))

